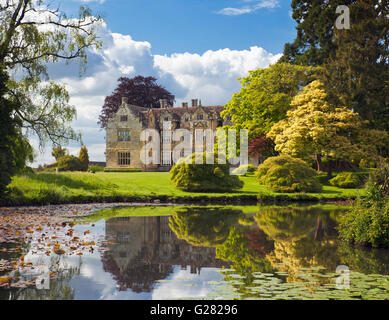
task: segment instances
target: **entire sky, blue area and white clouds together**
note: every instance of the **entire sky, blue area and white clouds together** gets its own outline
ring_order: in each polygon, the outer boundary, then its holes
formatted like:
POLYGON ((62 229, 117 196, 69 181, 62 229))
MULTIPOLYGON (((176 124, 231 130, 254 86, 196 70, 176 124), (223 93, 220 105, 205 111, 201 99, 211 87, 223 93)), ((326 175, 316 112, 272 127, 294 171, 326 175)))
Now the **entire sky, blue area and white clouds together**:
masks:
MULTIPOLYGON (((77 109, 72 127, 82 134, 91 161, 105 161, 105 131, 97 121, 104 98, 119 77, 154 76, 176 105, 199 98, 203 105, 227 103, 240 77, 276 62, 295 38, 290 0, 57 0, 69 14, 87 5, 101 13, 103 48, 89 50, 86 72, 56 64, 50 76, 65 84, 77 109)), ((52 163, 51 145, 33 166, 52 163)), ((65 146, 78 155, 80 143, 65 146)))

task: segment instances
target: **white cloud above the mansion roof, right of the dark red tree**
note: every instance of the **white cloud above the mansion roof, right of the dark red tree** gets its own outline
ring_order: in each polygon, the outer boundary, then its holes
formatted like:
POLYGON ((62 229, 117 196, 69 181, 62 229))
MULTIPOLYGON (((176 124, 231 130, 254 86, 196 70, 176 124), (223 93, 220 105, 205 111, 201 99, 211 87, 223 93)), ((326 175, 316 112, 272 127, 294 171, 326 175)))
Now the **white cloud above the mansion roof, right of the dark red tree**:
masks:
POLYGON ((250 70, 265 68, 279 58, 280 55, 260 47, 251 47, 250 50, 209 50, 202 55, 156 55, 154 61, 162 72, 172 74, 188 89, 185 97, 178 97, 181 100, 198 97, 203 104, 225 104, 232 93, 239 90, 237 78, 247 75, 250 70))

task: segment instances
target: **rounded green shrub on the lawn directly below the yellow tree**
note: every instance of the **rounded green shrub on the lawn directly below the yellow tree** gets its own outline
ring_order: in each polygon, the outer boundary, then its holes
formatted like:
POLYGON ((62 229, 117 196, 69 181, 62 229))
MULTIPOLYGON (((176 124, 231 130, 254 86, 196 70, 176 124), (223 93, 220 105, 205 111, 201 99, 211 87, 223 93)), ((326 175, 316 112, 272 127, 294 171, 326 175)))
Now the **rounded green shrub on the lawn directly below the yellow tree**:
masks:
POLYGON ((256 172, 260 183, 276 192, 320 192, 317 173, 303 160, 287 155, 266 159, 256 172))

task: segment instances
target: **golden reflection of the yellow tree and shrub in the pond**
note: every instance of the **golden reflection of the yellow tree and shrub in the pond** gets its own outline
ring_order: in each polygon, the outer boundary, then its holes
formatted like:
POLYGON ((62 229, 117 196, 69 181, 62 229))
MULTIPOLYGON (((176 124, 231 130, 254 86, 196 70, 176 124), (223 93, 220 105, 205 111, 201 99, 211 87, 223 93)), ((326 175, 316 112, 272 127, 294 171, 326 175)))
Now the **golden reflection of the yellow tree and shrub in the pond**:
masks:
POLYGON ((332 215, 320 207, 268 208, 256 215, 259 228, 275 240, 274 251, 267 259, 278 270, 289 273, 288 281, 298 281, 299 268, 336 270, 341 259, 332 215))

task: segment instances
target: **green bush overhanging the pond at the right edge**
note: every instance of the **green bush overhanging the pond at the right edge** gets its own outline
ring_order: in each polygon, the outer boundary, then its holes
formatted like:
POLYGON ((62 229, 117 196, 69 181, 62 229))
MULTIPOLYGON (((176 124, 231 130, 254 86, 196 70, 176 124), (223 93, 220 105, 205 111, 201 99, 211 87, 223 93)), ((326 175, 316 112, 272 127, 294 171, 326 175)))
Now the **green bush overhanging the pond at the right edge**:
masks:
POLYGON ((389 247, 389 202, 369 206, 358 201, 342 217, 339 236, 359 245, 389 247))

